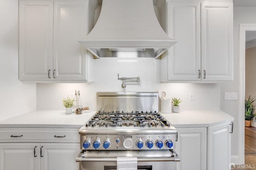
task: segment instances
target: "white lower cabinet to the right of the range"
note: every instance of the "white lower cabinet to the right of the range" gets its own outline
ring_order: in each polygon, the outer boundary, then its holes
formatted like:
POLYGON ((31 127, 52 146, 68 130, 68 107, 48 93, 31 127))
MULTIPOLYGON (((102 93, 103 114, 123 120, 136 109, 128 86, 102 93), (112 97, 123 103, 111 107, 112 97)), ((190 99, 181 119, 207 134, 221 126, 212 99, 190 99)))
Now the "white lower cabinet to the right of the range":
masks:
POLYGON ((176 128, 177 170, 229 170, 231 123, 212 127, 176 128))

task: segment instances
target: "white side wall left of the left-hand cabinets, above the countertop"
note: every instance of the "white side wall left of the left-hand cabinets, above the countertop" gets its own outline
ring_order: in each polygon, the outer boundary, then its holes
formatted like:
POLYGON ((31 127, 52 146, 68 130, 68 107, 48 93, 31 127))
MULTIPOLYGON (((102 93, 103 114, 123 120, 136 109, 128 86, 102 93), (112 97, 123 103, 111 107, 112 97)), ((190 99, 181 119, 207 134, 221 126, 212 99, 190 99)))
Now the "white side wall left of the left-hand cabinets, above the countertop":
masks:
POLYGON ((18 80, 18 0, 0 1, 0 120, 36 109, 36 84, 18 80))

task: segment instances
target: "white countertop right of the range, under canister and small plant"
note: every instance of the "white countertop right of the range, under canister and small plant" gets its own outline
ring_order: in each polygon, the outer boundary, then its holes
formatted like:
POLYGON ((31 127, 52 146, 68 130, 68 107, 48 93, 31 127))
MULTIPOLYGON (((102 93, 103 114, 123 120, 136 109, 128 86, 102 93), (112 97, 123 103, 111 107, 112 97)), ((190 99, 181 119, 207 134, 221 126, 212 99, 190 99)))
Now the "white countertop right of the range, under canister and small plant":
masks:
POLYGON ((234 117, 220 110, 186 110, 180 113, 161 113, 161 115, 175 128, 212 127, 234 121, 234 117))

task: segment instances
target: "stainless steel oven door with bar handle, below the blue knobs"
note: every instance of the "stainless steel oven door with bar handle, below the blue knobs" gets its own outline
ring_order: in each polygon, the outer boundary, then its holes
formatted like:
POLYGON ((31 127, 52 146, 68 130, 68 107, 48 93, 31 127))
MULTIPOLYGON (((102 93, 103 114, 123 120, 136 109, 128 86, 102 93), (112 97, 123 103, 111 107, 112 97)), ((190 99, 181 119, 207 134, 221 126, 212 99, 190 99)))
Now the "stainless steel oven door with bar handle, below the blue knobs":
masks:
POLYGON ((80 170, 116 170, 116 157, 137 157, 138 170, 176 170, 175 150, 82 150, 76 158, 80 170))

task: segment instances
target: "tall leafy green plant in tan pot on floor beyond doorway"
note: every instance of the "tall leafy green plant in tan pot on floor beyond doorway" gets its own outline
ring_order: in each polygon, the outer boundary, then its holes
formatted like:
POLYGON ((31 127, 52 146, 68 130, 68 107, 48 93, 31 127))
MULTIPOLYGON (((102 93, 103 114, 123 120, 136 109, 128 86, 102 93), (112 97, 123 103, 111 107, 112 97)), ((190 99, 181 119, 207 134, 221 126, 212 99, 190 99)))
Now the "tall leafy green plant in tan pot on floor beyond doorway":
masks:
POLYGON ((255 105, 254 102, 256 101, 255 97, 252 97, 251 95, 245 99, 245 126, 250 127, 250 122, 256 117, 256 114, 254 113, 255 105))

